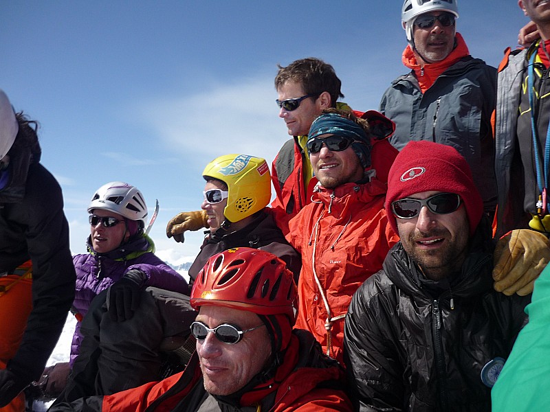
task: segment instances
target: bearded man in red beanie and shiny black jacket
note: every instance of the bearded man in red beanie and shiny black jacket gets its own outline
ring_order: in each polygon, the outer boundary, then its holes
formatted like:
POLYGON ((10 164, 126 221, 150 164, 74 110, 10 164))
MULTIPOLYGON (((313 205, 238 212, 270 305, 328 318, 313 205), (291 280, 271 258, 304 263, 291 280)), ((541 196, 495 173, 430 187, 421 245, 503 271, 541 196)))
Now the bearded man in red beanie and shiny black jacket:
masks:
POLYGON ((494 244, 465 159, 410 142, 386 196, 401 238, 353 295, 344 357, 361 411, 491 411, 530 295, 493 288, 494 244))

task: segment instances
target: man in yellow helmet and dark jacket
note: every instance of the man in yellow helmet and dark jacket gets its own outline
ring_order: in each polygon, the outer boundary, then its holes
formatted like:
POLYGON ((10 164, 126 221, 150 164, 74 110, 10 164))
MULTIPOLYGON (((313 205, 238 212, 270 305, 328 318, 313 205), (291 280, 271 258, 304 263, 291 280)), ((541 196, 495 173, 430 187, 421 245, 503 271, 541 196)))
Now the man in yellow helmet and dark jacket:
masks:
POLYGON ((201 251, 189 268, 190 282, 210 256, 233 247, 263 249, 277 255, 298 279, 301 259, 285 240, 271 214, 270 169, 264 159, 224 155, 203 171, 206 180, 201 205, 208 231, 201 251))

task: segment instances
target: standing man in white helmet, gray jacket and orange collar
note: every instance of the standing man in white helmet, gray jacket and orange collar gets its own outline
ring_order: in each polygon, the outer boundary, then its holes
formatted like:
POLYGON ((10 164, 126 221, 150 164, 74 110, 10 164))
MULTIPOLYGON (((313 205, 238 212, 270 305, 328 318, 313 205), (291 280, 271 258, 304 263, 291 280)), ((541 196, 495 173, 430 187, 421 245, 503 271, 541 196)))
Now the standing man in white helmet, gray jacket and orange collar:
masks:
POLYGON ((491 116, 496 69, 470 56, 456 32, 457 0, 405 0, 401 24, 408 46, 403 63, 410 72, 393 80, 380 111, 395 122, 390 142, 428 140, 454 147, 472 169, 483 207, 496 207, 491 116))

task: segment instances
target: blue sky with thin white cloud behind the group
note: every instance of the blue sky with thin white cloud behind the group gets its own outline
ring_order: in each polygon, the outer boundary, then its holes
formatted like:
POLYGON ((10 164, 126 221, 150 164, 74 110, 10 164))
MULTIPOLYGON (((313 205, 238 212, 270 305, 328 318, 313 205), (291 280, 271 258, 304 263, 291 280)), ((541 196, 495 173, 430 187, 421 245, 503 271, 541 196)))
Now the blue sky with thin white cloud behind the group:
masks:
MULTIPOLYGON (((490 65, 527 22, 516 1, 460 0, 459 11, 470 53, 490 65)), ((186 262, 202 233, 177 244, 164 231, 178 211, 199 209, 204 166, 236 152, 271 163, 288 138, 276 65, 322 58, 345 102, 376 109, 406 72, 400 12, 400 0, 1 1, 0 88, 41 124, 73 253, 85 253, 91 195, 121 180, 151 212, 159 200, 157 254, 186 262)))

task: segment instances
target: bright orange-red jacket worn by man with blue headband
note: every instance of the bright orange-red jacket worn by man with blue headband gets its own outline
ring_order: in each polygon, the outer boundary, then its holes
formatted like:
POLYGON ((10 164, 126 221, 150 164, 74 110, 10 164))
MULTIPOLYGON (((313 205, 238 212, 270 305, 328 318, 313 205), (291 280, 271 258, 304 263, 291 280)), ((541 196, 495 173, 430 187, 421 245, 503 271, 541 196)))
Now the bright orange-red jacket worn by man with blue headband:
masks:
POLYGON ((309 330, 326 354, 343 363, 344 317, 351 297, 382 269, 399 237, 384 209, 386 183, 372 179, 335 190, 318 185, 316 191, 313 202, 289 222, 287 240, 302 255, 295 327, 309 330))

